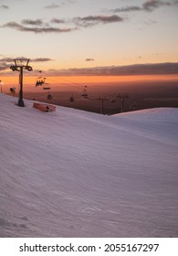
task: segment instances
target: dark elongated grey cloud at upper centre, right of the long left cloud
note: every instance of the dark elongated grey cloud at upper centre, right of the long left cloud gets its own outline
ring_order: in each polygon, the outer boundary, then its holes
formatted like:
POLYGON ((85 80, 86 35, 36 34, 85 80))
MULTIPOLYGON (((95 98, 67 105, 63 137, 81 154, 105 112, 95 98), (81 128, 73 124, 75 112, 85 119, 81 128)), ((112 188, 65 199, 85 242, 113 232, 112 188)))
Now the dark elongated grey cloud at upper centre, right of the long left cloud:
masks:
POLYGON ((123 21, 123 18, 120 16, 84 16, 84 17, 75 17, 74 23, 81 27, 91 27, 99 23, 107 24, 113 22, 123 21))

